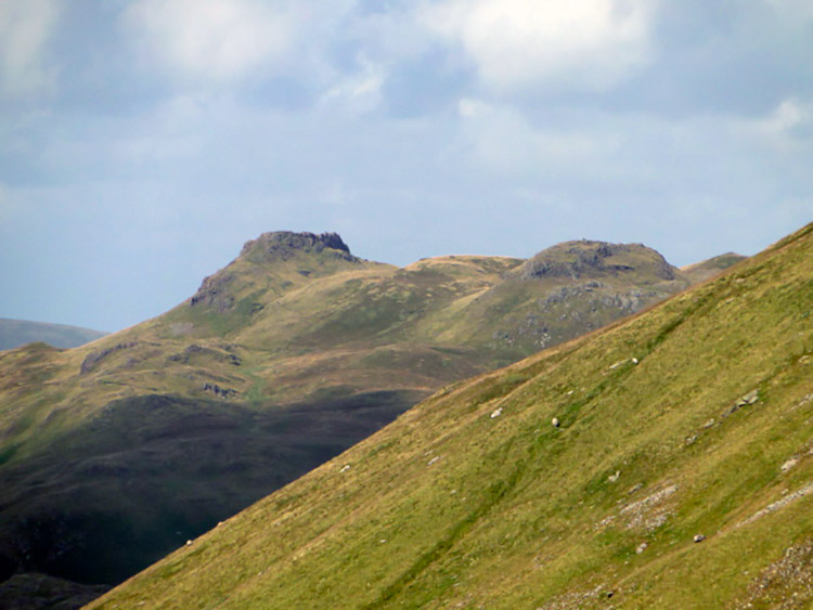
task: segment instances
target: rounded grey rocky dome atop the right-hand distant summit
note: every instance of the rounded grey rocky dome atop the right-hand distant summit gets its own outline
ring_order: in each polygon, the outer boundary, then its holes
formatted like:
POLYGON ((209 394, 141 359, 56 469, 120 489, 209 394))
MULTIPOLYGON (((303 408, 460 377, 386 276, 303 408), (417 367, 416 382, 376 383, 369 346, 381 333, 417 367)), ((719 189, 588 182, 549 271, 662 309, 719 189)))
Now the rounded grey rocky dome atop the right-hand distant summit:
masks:
POLYGON ((676 277, 675 268, 657 251, 642 244, 608 244, 606 242, 566 242, 539 252, 520 268, 524 280, 538 277, 572 277, 590 273, 617 275, 634 271, 635 263, 645 263, 660 280, 676 277))

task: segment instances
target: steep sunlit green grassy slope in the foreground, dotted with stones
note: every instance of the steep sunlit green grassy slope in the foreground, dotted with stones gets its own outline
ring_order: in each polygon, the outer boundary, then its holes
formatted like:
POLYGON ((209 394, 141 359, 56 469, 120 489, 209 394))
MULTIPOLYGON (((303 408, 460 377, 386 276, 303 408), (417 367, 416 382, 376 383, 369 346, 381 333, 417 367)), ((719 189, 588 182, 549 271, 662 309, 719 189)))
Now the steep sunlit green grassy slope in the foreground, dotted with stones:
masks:
POLYGON ((91 607, 810 607, 812 320, 810 225, 443 389, 91 607))

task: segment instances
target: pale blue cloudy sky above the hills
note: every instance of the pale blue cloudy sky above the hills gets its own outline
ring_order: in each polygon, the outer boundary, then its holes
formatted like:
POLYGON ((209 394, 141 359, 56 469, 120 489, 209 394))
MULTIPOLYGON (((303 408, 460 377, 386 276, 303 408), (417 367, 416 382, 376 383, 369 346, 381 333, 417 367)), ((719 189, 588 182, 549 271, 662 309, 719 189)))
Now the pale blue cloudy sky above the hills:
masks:
POLYGON ((0 1, 0 317, 117 330, 266 231, 684 265, 812 217, 810 0, 0 1))

